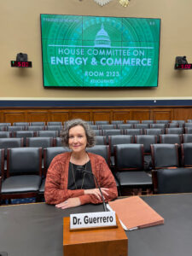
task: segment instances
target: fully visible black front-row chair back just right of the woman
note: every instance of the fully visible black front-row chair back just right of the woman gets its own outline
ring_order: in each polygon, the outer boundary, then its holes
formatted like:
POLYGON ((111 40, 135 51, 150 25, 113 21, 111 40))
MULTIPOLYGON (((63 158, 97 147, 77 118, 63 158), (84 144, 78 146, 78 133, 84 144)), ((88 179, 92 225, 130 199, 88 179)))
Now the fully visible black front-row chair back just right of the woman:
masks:
POLYGON ((143 171, 143 144, 114 145, 114 163, 116 171, 143 171))

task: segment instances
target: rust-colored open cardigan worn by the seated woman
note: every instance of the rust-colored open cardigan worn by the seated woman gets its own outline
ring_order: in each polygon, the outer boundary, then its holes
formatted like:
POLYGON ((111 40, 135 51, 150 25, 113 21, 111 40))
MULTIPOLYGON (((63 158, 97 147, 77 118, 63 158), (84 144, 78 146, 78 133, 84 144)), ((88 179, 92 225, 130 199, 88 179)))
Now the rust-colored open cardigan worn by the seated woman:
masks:
MULTIPOLYGON (((106 161, 102 156, 88 153, 92 172, 96 175, 101 188, 107 188, 108 195, 105 196, 105 201, 111 201, 117 197, 117 186, 112 172, 108 168, 106 161)), ((44 198, 48 204, 58 204, 66 201, 70 197, 79 197, 81 204, 102 203, 96 195, 84 195, 84 189, 67 189, 68 185, 68 170, 71 152, 58 154, 52 160, 47 172, 44 198)), ((97 185, 96 185, 97 188, 97 185)))

